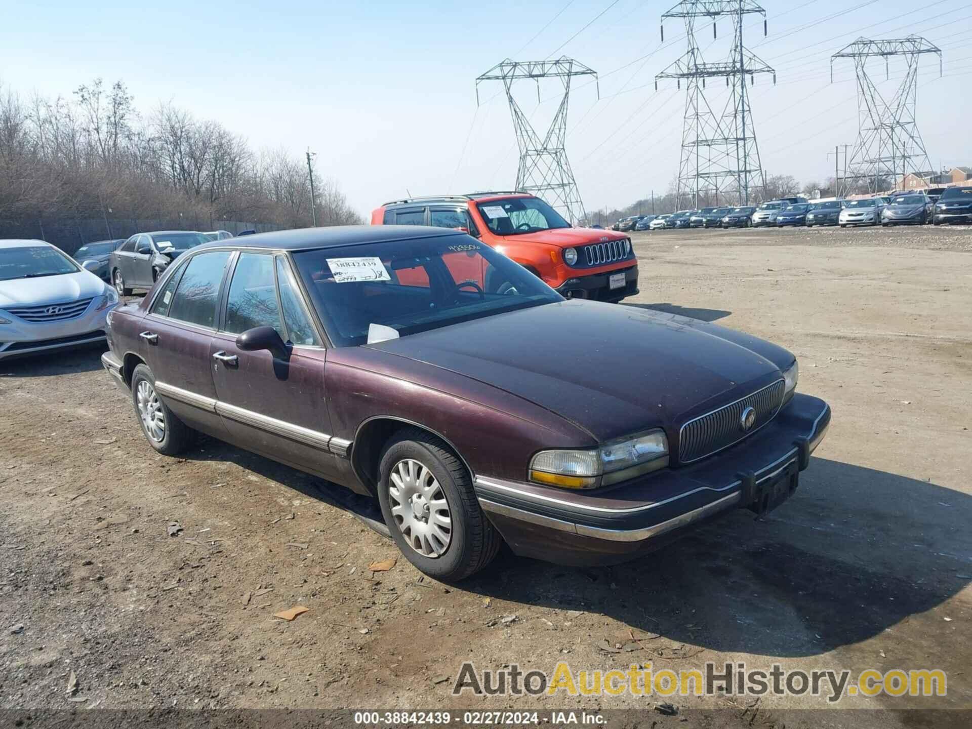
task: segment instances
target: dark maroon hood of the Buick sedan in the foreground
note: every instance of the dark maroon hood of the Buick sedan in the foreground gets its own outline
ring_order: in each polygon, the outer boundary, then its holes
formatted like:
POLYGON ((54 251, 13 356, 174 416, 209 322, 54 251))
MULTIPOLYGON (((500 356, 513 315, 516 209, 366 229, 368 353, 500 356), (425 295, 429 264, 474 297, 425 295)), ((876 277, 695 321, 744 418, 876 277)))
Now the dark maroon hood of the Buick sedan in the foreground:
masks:
POLYGON ((780 378, 781 347, 699 320, 572 300, 369 345, 529 400, 600 440, 663 427, 780 378))

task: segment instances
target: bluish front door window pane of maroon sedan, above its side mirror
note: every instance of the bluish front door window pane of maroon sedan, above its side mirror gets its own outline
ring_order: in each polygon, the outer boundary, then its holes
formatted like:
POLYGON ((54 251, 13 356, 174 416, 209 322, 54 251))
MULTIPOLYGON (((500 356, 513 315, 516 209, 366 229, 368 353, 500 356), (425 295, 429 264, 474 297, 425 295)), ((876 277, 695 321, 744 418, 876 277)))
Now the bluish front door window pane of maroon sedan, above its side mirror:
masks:
POLYGON ((273 257, 260 253, 240 254, 226 297, 224 330, 239 334, 255 327, 273 327, 284 336, 280 326, 280 307, 273 281, 273 257))

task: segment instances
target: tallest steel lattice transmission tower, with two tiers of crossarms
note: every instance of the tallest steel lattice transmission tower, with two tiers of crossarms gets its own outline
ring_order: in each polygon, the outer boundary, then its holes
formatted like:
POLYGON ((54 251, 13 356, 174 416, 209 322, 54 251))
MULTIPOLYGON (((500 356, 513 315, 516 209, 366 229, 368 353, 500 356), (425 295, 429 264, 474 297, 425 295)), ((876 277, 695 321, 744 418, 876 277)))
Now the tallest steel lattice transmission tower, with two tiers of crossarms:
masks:
POLYGON ((756 74, 773 74, 774 83, 777 76, 776 71, 743 45, 743 20, 751 14, 763 16, 765 35, 766 11, 753 0, 682 0, 662 16, 662 23, 669 17, 683 18, 688 38, 688 51, 655 77, 656 89, 659 79, 676 79, 679 88, 682 79, 687 82, 678 168, 679 208, 687 200, 695 207, 718 204, 720 193, 723 201, 733 197, 740 204, 747 204, 753 188, 765 187, 746 77, 751 85, 756 74), (733 18, 732 50, 727 60, 707 63, 696 39, 696 23, 711 18, 714 38, 719 17, 733 18), (712 78, 725 78, 726 86, 731 87, 725 106, 718 111, 706 97, 706 79, 712 78))

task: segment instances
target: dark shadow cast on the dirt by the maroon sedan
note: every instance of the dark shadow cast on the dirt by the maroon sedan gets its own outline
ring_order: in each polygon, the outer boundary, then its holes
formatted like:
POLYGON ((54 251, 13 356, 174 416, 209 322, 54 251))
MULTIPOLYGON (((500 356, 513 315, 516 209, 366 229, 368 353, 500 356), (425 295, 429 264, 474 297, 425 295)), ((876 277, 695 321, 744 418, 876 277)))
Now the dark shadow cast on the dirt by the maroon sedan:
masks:
MULTIPOLYGON (((210 438, 200 445, 184 457, 232 461, 387 536, 371 499, 210 438)), ((504 547, 458 587, 514 604, 600 613, 640 633, 712 650, 818 655, 874 638, 955 596, 972 581, 970 523, 972 497, 961 492, 814 458, 793 498, 765 520, 738 509, 609 568, 560 567, 504 547)))

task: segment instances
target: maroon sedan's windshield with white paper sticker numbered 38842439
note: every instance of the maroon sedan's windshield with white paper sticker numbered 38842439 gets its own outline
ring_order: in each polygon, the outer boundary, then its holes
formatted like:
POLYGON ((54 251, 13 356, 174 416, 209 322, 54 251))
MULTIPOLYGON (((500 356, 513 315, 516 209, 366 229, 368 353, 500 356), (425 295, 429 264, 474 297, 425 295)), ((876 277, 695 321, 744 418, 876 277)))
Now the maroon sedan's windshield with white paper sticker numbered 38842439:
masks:
POLYGON ((338 346, 564 300, 525 268, 463 235, 302 251, 294 260, 338 346))

